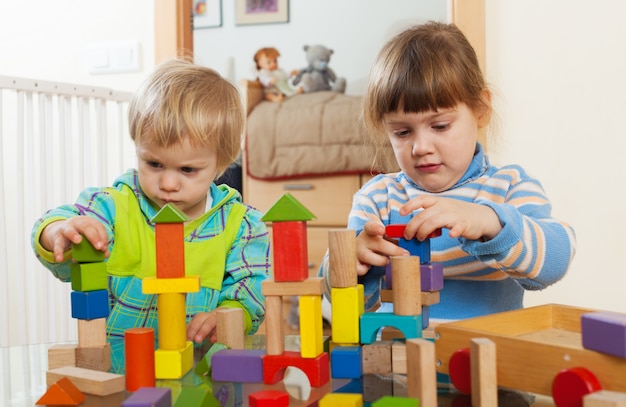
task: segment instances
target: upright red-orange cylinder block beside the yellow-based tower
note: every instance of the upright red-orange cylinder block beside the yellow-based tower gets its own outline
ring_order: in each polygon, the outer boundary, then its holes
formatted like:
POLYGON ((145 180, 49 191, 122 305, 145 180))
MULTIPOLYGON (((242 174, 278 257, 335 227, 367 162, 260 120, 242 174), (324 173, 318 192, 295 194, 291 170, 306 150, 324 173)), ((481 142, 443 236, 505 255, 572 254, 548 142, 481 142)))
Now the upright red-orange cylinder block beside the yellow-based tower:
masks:
POLYGON ((154 329, 130 328, 124 331, 126 390, 155 387, 154 329))

